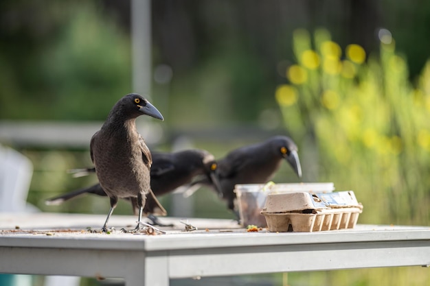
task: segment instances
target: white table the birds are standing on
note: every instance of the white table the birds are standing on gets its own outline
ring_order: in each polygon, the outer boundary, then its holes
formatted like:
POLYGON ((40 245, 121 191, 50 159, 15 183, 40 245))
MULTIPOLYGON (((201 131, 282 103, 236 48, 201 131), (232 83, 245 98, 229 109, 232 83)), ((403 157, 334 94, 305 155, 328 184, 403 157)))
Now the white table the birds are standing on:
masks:
MULTIPOLYGON (((183 228, 179 219, 164 221, 183 228)), ((189 219, 199 230, 155 236, 79 231, 103 222, 104 215, 0 214, 0 273, 119 277, 126 286, 166 286, 170 278, 430 264, 427 226, 247 233, 228 220, 189 219)), ((118 230, 134 224, 132 216, 111 220, 118 230)))

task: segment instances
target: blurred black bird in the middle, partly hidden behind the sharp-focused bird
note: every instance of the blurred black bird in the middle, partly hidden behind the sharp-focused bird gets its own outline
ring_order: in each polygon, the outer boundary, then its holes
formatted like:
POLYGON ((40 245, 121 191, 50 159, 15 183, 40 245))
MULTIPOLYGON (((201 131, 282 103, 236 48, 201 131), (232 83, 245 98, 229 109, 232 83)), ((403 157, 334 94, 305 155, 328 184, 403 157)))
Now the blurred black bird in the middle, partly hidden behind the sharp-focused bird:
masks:
MULTIPOLYGON (((153 193, 159 197, 166 193, 174 191, 178 187, 185 184, 190 184, 194 179, 205 178, 208 182, 214 185, 217 191, 220 191, 220 184, 217 175, 217 163, 214 156, 206 150, 185 150, 174 153, 152 152, 152 166, 150 169, 150 184, 153 193)), ((76 169, 77 174, 87 174, 95 171, 95 168, 76 169)), ((60 204, 71 198, 84 193, 93 193, 95 195, 104 195, 106 192, 100 184, 94 184, 91 187, 71 191, 64 195, 59 195, 56 198, 48 199, 47 204, 60 204)), ((135 200, 131 200, 133 211, 137 214, 138 208, 135 200)), ((156 213, 157 202, 148 197, 146 200, 145 209, 149 213, 156 213)), ((148 215, 152 220, 152 224, 161 225, 157 217, 148 215)))

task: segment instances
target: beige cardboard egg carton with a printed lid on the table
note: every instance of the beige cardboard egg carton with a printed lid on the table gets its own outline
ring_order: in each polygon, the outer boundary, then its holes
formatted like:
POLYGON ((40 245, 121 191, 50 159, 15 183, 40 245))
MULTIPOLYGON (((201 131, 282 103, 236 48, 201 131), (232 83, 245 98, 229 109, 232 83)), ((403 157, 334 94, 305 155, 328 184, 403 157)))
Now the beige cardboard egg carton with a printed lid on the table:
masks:
POLYGON ((354 228, 363 206, 353 191, 271 193, 262 214, 271 232, 313 232, 354 228))

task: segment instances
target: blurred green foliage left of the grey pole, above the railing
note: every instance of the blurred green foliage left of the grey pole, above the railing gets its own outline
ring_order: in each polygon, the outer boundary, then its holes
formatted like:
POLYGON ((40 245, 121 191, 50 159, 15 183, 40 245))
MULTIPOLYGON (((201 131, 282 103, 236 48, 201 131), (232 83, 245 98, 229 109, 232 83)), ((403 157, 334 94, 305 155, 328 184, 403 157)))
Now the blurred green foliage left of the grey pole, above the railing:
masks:
POLYGON ((129 36, 98 2, 2 4, 0 119, 105 119, 131 90, 129 36))

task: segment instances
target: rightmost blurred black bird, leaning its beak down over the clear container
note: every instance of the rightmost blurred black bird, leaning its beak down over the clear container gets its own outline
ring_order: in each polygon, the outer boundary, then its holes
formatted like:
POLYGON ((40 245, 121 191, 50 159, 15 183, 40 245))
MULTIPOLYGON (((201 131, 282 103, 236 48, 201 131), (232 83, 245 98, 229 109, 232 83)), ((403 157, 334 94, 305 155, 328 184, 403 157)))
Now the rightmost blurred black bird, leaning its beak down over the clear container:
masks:
MULTIPOLYGON (((297 154, 297 145, 287 136, 273 136, 262 143, 240 147, 218 160, 221 197, 227 201, 227 207, 238 215, 234 206, 236 199, 234 186, 268 182, 279 169, 283 159, 288 161, 297 176, 301 178, 302 167, 297 154)), ((214 187, 205 178, 192 184, 214 187)))

